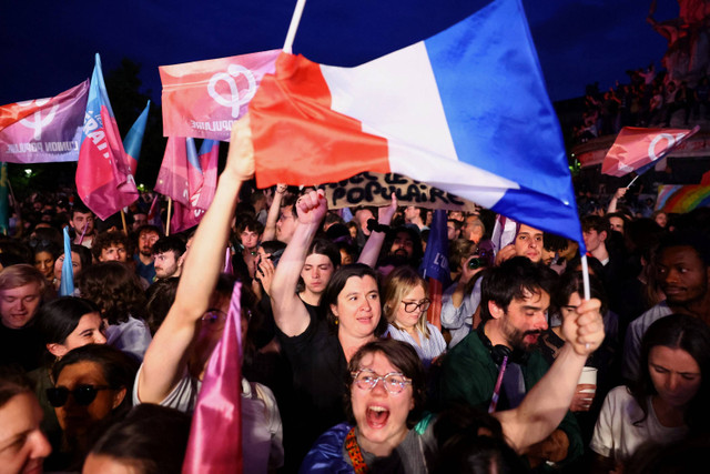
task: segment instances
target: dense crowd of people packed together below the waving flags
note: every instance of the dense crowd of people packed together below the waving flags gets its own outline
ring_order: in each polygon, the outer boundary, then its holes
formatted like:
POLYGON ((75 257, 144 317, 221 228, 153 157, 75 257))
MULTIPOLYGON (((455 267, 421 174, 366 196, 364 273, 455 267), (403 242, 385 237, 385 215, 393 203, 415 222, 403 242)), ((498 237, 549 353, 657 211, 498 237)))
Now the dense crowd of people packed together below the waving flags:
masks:
POLYGON ((633 472, 708 447, 710 210, 640 216, 619 192, 582 212, 589 300, 577 242, 448 211, 439 326, 430 210, 252 178, 231 150, 200 225, 170 235, 149 199, 124 221, 18 203, 0 472, 179 472, 237 282, 245 473, 633 472))

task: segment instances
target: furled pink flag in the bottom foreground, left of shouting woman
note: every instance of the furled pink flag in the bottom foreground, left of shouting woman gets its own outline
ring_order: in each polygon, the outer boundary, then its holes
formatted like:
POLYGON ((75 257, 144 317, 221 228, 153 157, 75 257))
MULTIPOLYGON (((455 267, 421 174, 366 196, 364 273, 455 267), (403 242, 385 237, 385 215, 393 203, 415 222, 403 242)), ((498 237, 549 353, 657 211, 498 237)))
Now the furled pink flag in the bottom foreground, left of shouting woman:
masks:
POLYGON ((197 397, 184 474, 243 471, 240 295, 241 285, 236 283, 222 339, 212 353, 197 397))

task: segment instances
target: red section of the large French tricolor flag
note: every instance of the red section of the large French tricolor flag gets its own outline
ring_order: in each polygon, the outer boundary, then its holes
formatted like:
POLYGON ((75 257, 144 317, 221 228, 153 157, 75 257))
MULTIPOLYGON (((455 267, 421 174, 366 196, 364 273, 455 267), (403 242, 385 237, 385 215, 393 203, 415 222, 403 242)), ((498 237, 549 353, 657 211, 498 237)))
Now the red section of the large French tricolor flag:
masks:
POLYGON ((389 172, 387 140, 363 132, 359 121, 331 110, 320 65, 302 56, 278 57, 275 75, 264 77, 248 110, 257 188, 389 172))

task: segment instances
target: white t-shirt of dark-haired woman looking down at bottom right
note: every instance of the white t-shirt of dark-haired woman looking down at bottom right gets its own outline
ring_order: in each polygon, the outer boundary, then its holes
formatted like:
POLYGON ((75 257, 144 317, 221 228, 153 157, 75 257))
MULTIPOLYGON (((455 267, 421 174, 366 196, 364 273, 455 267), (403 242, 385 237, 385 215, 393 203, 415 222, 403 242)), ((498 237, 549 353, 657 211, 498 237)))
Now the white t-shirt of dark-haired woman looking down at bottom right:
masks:
POLYGON ((633 422, 643 417, 641 407, 626 385, 612 389, 604 401, 589 447, 597 454, 611 457, 617 463, 628 460, 646 442, 669 444, 682 440, 686 426, 666 427, 648 399, 648 416, 638 426, 633 422))

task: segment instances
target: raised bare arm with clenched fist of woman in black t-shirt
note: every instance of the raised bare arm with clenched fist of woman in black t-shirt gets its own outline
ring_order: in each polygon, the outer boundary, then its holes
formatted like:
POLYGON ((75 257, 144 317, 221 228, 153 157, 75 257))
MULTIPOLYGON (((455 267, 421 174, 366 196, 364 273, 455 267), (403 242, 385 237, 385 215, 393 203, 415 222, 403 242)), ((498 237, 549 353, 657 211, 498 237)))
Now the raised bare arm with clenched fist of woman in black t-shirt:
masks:
POLYGON ((322 190, 311 191, 298 198, 296 229, 291 242, 281 255, 271 282, 271 304, 274 310, 274 320, 278 329, 288 336, 303 333, 311 321, 306 306, 296 294, 296 285, 306 261, 308 248, 327 210, 328 205, 322 190))

